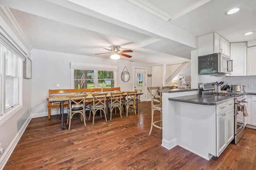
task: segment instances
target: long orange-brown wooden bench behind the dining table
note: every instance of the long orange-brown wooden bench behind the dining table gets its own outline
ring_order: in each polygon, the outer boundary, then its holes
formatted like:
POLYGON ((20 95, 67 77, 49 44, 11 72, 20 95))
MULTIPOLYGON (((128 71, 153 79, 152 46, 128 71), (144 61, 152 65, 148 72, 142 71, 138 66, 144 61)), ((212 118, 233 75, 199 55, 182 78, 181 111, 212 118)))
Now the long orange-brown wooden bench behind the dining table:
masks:
MULTIPOLYGON (((115 88, 102 88, 103 92, 110 91, 119 91, 120 87, 115 88)), ((101 92, 101 88, 88 88, 88 89, 61 89, 61 90, 50 90, 49 89, 49 97, 53 95, 65 95, 72 93, 93 93, 93 92, 101 92)), ((47 98, 47 107, 48 107, 48 119, 51 119, 51 109, 60 108, 59 102, 50 103, 47 98)), ((68 107, 68 102, 64 102, 64 107, 68 107)))

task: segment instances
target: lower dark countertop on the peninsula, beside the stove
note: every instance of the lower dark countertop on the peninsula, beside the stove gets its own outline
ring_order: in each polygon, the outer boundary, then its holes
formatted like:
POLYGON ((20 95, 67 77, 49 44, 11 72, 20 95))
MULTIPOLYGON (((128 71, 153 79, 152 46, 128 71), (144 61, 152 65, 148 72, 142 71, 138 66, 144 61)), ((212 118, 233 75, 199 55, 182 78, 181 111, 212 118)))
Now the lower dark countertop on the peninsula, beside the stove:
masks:
POLYGON ((176 102, 201 104, 201 105, 217 105, 217 104, 227 102, 229 100, 234 100, 234 97, 194 94, 189 96, 169 98, 169 100, 176 101, 176 102))

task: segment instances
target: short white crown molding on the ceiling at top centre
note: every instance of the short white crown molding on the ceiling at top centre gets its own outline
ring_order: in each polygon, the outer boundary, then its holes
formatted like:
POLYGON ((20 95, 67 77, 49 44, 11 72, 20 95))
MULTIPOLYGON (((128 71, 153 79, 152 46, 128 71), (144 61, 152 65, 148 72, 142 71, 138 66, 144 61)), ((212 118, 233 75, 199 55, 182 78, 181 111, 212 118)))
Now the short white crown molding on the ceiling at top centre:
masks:
POLYGON ((150 2, 146 0, 126 0, 127 2, 130 2, 131 4, 141 8, 142 10, 145 10, 146 12, 149 12, 150 14, 161 18, 164 21, 169 21, 172 19, 172 16, 160 8, 154 6, 150 2))

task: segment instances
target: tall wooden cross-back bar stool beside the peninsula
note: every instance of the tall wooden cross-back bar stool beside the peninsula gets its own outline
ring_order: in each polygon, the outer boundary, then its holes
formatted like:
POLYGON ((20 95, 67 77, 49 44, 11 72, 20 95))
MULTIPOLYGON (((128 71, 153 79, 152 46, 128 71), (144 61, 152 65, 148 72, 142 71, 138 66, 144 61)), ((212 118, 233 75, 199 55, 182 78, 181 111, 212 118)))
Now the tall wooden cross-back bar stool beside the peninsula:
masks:
POLYGON ((162 130, 162 93, 157 92, 157 90, 160 90, 160 87, 148 87, 151 96, 151 127, 149 135, 152 132, 153 126, 162 130), (160 111, 161 118, 158 121, 154 121, 154 111, 156 110, 160 111), (158 122, 160 122, 160 126, 156 125, 158 122))

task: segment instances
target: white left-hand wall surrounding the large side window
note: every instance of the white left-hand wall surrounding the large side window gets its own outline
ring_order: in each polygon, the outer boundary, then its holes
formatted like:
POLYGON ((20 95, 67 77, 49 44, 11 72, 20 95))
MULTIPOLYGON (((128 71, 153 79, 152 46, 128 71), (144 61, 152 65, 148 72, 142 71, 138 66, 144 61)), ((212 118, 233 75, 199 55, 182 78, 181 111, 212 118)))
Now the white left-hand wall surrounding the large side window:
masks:
MULTIPOLYGON (((16 31, 13 29, 13 26, 10 25, 8 19, 5 15, 0 11, 0 16, 3 20, 1 20, 1 26, 5 26, 4 29, 8 29, 8 31, 12 31, 14 34, 10 34, 12 39, 20 40, 21 43, 19 45, 24 45, 24 42, 20 39, 16 31), (16 36, 16 37, 15 37, 16 36)), ((5 30, 7 31, 7 30, 5 30)), ((26 47, 24 47, 26 48, 26 47)), ((27 48, 28 49, 28 48, 27 48)), ((29 50, 28 50, 29 51, 29 50)), ((23 69, 22 69, 23 70, 23 69)), ((5 122, 0 124, 0 143, 1 147, 4 148, 4 152, 0 154, 0 169, 6 163, 9 158, 12 150, 18 143, 19 138, 22 135, 22 130, 24 130, 24 124, 30 121, 30 113, 31 113, 31 79, 22 78, 22 108, 12 115, 12 117, 6 119, 5 122)))

